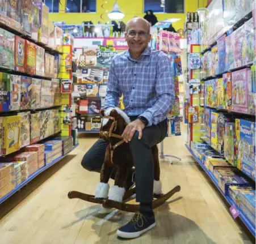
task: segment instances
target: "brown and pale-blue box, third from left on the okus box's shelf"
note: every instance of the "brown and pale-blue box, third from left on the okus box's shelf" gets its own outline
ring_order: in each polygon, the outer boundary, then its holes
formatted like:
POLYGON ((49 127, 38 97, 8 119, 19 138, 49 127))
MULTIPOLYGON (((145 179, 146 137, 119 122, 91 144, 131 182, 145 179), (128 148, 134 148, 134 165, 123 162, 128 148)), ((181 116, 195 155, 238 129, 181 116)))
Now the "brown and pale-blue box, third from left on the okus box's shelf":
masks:
POLYGON ((20 109, 31 108, 32 78, 21 76, 20 80, 20 109))

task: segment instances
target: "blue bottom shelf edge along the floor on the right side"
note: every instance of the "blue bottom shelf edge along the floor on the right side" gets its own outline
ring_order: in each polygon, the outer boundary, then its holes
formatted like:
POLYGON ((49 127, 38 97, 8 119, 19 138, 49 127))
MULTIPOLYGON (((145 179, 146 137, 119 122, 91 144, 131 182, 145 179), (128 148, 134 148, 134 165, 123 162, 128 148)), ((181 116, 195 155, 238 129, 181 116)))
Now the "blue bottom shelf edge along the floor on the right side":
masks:
MULTIPOLYGON (((221 192, 221 194, 224 196, 224 198, 226 199, 226 201, 229 203, 230 206, 232 206, 233 204, 236 205, 233 200, 228 196, 225 195, 220 187, 218 186, 218 182, 217 179, 214 177, 214 175, 212 174, 211 171, 209 171, 205 165, 202 163, 202 161, 200 159, 198 159, 198 157, 195 156, 194 152, 192 152, 192 150, 190 149, 190 147, 186 145, 186 148, 188 149, 188 151, 190 151, 191 155, 194 157, 194 159, 198 162, 198 164, 203 168, 203 170, 205 171, 205 173, 207 173, 207 175, 209 176, 209 178, 211 178, 211 180, 213 181, 213 183, 215 184, 215 186, 217 187, 217 189, 221 192)), ((250 221, 247 219, 247 217, 244 215, 243 212, 240 211, 240 209, 237 209, 239 211, 239 216, 240 219, 242 220, 242 222, 244 222, 245 226, 250 230, 251 234, 253 234, 253 236, 255 237, 255 227, 250 223, 250 221)))

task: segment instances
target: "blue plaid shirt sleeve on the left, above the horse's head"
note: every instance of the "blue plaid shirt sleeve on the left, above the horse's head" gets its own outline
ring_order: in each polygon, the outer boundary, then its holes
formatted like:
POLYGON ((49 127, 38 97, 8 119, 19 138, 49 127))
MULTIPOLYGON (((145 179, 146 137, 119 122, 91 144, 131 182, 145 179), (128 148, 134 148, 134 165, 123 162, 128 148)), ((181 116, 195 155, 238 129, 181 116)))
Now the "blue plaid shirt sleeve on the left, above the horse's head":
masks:
POLYGON ((115 59, 113 58, 108 74, 107 94, 104 109, 116 107, 119 104, 120 97, 121 92, 119 89, 119 80, 116 76, 115 59))

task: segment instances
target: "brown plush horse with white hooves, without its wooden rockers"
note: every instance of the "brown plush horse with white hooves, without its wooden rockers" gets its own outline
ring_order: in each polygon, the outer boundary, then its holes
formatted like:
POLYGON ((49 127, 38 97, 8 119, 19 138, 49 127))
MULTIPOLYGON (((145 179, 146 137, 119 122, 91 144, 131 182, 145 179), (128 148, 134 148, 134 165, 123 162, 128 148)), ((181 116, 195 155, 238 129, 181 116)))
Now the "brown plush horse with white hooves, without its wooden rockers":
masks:
MULTIPOLYGON (((125 183, 129 170, 134 166, 131 149, 128 143, 125 143, 122 134, 130 122, 127 114, 119 108, 109 108, 102 112, 103 120, 100 126, 100 139, 106 140, 108 146, 106 149, 105 160, 100 171, 100 182, 96 186, 95 198, 110 199, 116 202, 122 202, 125 193, 125 183), (110 194, 108 191, 110 186, 108 181, 112 169, 117 167, 115 184, 111 187, 110 194)), ((158 147, 154 145, 152 148, 154 161, 154 194, 162 193, 162 185, 160 181, 160 164, 158 160, 158 147)))

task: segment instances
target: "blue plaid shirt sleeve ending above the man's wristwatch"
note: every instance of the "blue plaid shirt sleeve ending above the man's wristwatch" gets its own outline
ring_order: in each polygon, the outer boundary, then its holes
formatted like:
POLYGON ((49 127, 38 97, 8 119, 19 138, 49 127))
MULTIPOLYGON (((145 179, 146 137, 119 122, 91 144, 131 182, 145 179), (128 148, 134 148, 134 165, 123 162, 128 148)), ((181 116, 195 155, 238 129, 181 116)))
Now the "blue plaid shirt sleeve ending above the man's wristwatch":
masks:
POLYGON ((147 126, 160 123, 160 118, 167 117, 167 114, 173 108, 175 99, 173 72, 173 66, 169 57, 163 55, 157 65, 157 101, 151 108, 141 114, 141 116, 148 119, 149 123, 147 126))

